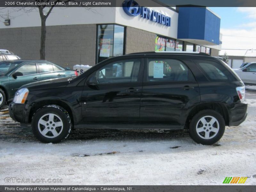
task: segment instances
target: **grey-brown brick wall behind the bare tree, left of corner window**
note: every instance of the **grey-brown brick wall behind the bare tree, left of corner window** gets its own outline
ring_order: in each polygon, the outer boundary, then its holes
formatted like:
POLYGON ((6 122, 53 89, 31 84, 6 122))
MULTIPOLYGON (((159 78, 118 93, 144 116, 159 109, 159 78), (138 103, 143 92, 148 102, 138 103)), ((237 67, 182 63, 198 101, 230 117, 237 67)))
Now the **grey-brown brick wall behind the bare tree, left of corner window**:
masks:
MULTIPOLYGON (((1 49, 22 59, 40 59, 40 27, 0 29, 1 49)), ((46 27, 45 59, 62 67, 95 65, 96 25, 46 27)))

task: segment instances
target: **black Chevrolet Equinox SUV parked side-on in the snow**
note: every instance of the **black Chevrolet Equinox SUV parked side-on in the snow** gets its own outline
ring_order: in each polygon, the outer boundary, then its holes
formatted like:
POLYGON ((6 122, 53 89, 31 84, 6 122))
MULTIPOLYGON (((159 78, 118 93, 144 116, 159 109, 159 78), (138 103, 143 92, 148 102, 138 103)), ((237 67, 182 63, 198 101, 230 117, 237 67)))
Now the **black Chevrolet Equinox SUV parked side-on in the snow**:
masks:
POLYGON ((24 85, 9 113, 46 143, 94 127, 189 129, 209 145, 245 120, 244 95, 241 79, 206 53, 143 52, 102 61, 73 80, 24 85))

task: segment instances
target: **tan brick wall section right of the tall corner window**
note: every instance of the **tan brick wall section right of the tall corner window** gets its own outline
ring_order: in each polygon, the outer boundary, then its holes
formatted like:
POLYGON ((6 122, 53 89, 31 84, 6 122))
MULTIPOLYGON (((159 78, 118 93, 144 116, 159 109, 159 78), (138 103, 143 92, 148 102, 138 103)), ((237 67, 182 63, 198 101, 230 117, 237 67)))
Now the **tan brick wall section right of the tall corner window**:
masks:
POLYGON ((155 51, 156 34, 137 28, 126 27, 125 54, 155 51))

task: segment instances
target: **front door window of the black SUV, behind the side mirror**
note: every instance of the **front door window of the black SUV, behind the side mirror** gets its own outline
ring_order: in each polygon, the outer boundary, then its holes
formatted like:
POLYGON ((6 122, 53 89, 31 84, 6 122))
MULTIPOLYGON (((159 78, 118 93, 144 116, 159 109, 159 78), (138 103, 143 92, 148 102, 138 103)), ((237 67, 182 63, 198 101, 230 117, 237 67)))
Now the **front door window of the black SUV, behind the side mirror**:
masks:
POLYGON ((92 75, 99 84, 137 82, 140 69, 140 59, 121 60, 109 63, 98 69, 92 75))

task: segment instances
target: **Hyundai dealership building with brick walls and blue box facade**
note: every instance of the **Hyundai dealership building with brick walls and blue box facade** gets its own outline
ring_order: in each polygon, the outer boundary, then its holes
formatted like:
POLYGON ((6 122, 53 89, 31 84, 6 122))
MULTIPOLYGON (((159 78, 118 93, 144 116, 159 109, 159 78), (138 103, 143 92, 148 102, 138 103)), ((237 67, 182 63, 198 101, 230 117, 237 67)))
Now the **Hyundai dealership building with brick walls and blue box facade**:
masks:
MULTIPOLYGON (((219 55, 220 17, 207 7, 171 8, 158 1, 148 7, 142 0, 136 1, 139 6, 131 2, 118 7, 54 7, 46 20, 45 59, 73 68, 133 52, 219 55)), ((4 11, 10 21, 0 23, 0 49, 22 59, 39 59, 41 20, 37 8, 4 11)))

